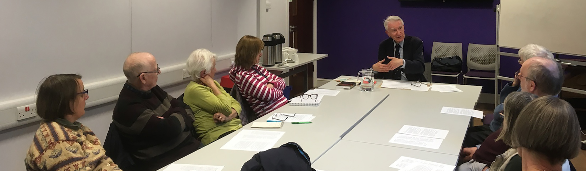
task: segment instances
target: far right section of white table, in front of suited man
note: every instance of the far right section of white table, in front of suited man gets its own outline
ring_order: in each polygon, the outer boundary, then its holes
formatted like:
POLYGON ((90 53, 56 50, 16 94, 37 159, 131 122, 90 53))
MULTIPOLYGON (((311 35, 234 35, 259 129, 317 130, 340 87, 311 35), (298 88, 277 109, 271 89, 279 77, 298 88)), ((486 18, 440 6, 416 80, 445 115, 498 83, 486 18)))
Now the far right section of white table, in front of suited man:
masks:
POLYGON ((474 108, 482 87, 456 87, 464 92, 387 90, 389 97, 342 139, 458 155, 471 117, 441 114, 441 108, 474 108), (403 125, 444 129, 449 132, 439 149, 390 143, 389 140, 403 125))

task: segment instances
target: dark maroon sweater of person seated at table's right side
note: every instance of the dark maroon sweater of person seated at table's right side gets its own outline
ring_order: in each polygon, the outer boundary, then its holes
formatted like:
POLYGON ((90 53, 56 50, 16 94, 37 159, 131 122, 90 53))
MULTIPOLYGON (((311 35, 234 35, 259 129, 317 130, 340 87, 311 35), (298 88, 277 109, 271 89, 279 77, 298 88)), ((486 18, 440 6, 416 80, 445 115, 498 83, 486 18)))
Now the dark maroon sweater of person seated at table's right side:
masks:
POLYGON ((495 142, 500 134, 500 130, 501 129, 496 130, 486 137, 480 148, 478 148, 474 155, 472 155, 472 159, 490 167, 490 164, 495 161, 496 156, 502 155, 510 148, 510 146, 506 145, 502 140, 495 142))

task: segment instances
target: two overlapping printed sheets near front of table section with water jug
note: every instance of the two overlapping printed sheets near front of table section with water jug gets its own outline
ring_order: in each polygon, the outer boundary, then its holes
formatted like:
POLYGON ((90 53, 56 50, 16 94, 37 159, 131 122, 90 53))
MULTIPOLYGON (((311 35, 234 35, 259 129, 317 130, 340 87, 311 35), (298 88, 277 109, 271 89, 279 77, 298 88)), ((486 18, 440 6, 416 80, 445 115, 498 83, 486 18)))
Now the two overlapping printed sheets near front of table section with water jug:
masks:
POLYGON ((444 141, 445 136, 448 135, 448 132, 448 130, 442 129, 404 125, 389 142, 423 148, 440 149, 440 145, 444 141))

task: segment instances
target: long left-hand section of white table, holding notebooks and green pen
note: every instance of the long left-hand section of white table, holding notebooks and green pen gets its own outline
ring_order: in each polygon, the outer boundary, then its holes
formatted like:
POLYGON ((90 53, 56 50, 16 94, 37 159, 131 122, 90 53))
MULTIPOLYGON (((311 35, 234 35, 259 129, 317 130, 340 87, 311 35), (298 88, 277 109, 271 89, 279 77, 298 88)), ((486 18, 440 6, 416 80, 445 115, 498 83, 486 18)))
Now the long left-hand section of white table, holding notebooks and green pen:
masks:
MULTIPOLYGON (((242 165, 258 152, 224 150, 220 148, 243 129, 284 131, 285 134, 273 147, 276 148, 287 142, 296 142, 301 145, 305 152, 312 156, 313 162, 318 156, 321 156, 338 142, 344 132, 355 125, 360 118, 371 111, 387 95, 385 93, 342 91, 337 96, 323 97, 319 107, 285 105, 274 112, 312 114, 315 116, 312 120, 314 123, 294 125, 285 122, 280 129, 250 128, 251 124, 247 124, 238 131, 216 142, 210 143, 202 149, 173 163, 216 165, 225 166, 223 170, 240 170, 242 165)), ((271 114, 274 112, 271 112, 271 114)), ((271 114, 267 114, 256 121, 265 122, 271 114)), ((165 167, 160 170, 163 169, 165 167)))

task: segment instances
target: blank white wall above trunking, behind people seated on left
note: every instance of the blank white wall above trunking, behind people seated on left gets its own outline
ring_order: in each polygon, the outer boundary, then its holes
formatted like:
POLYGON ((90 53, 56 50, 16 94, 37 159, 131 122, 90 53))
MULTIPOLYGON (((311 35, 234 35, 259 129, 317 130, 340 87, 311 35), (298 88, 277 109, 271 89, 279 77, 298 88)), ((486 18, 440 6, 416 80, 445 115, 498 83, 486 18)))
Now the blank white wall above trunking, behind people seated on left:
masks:
POLYGON ((132 52, 160 67, 207 48, 234 53, 256 35, 255 0, 2 0, 0 104, 30 97, 42 78, 79 73, 84 84, 123 77, 132 52))

